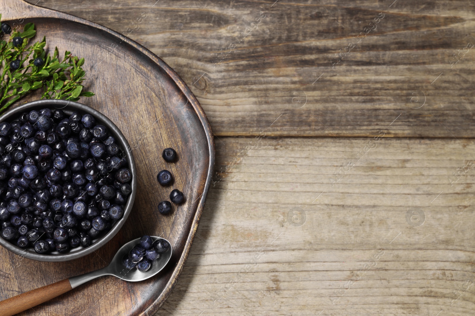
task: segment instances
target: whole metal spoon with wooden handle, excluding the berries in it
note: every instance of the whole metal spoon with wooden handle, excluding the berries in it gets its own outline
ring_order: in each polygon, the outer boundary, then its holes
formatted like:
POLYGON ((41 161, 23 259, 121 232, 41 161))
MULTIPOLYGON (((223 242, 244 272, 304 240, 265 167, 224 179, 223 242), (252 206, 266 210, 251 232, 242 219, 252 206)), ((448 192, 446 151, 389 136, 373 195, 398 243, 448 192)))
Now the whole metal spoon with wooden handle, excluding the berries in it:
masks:
MULTIPOLYGON (((151 236, 152 239, 164 239, 160 237, 151 236)), ((166 240, 166 239, 164 239, 166 240)), ((22 312, 28 308, 37 306, 38 304, 44 303, 51 298, 56 298, 57 296, 66 293, 67 291, 74 289, 81 284, 93 280, 104 275, 113 275, 124 281, 143 281, 148 278, 151 278, 158 272, 160 272, 170 261, 171 257, 171 244, 170 248, 166 253, 162 253, 160 257, 152 262, 152 266, 146 272, 138 271, 136 268, 133 270, 127 270, 122 265, 122 258, 125 254, 129 253, 130 250, 138 244, 140 238, 134 239, 133 241, 124 244, 119 251, 115 254, 112 262, 105 268, 88 272, 76 277, 65 279, 42 288, 33 289, 29 292, 22 293, 20 295, 8 298, 0 302, 0 316, 11 316, 19 312, 22 312)), ((168 240, 167 240, 168 242, 168 240)))

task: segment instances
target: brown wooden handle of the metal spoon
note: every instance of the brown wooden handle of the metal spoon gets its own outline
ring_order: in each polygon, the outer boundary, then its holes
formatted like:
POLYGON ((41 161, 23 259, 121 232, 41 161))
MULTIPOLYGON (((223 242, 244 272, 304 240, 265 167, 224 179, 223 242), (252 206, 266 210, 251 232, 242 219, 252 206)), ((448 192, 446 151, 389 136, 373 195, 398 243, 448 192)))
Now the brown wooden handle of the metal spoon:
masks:
POLYGON ((29 292, 25 292, 14 296, 12 298, 5 299, 0 302, 0 316, 11 316, 25 309, 37 306, 44 303, 51 298, 66 293, 71 288, 69 279, 65 279, 42 288, 32 289, 29 292))

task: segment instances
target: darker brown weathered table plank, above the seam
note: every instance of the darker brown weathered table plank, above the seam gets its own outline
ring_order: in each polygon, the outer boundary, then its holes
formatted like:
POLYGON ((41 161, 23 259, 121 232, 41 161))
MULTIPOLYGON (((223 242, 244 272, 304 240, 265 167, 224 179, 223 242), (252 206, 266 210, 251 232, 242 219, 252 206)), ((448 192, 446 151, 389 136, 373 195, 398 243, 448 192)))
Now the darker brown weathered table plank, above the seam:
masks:
MULTIPOLYGON (((389 135, 472 137, 473 1, 393 2, 41 5, 110 27, 162 57, 198 97, 218 136, 254 136, 277 117, 268 135, 366 136, 399 117, 389 135), (142 23, 132 24, 142 13, 142 23), (336 59, 340 50, 349 53, 336 59), (454 54, 459 61, 451 64, 454 54)), ((107 55, 111 44, 98 53, 107 55)))

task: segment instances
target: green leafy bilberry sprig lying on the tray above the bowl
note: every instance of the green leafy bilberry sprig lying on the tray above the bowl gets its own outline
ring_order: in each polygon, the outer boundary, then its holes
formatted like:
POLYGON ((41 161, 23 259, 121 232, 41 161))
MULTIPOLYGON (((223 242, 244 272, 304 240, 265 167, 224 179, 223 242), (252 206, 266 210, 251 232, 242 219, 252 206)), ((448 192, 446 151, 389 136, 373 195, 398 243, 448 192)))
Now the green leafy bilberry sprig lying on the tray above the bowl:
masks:
MULTIPOLYGON (((0 14, 1 19, 1 14, 0 14)), ((81 68, 84 58, 79 59, 66 51, 63 60, 59 59, 57 47, 53 56, 45 51, 46 36, 43 40, 28 46, 28 39, 36 35, 35 25, 28 23, 23 32, 12 30, 10 36, 0 40, 0 113, 26 94, 41 87, 41 99, 66 99, 77 101, 79 97, 91 97, 94 93, 85 91, 82 82, 85 71, 81 68), (23 43, 13 45, 13 38, 19 36, 23 43), (34 60, 41 58, 44 63, 35 66, 34 60), (20 60, 20 67, 13 70, 12 61, 20 60)))

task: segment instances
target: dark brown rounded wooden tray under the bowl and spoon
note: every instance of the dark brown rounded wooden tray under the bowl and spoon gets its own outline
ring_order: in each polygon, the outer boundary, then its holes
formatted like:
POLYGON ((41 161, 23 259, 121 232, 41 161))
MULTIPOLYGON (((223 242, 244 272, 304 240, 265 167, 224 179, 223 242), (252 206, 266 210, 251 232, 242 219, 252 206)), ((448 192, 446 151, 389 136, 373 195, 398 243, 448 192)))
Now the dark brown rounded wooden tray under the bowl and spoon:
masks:
MULTIPOLYGON (((71 51, 85 57, 87 89, 79 102, 109 117, 123 132, 137 165, 133 211, 117 235, 100 250, 70 262, 38 262, 0 249, 0 300, 107 265, 120 246, 141 235, 168 239, 173 255, 157 276, 142 282, 103 277, 86 283, 21 315, 152 315, 170 294, 190 251, 209 189, 214 143, 208 120, 180 77, 160 58, 106 27, 22 0, 0 3, 2 21, 36 25, 50 52, 71 51), (161 152, 176 149, 176 163, 161 152), (161 187, 157 173, 169 170, 175 182, 161 187), (157 209, 173 189, 186 201, 168 216, 157 209)), ((132 17, 135 19, 135 17, 132 17)), ((136 17, 140 18, 140 17, 136 17)), ((125 33, 127 34, 127 33, 125 33)), ((19 104, 38 95, 21 99, 19 104)))

